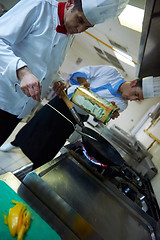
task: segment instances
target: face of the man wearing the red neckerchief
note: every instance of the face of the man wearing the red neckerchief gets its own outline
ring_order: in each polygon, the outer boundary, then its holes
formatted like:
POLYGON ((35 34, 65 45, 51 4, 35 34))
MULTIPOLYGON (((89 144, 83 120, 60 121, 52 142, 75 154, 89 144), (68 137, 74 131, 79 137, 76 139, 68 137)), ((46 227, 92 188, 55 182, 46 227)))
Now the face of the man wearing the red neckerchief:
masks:
POLYGON ((74 9, 74 1, 67 1, 64 14, 64 25, 69 34, 81 33, 93 27, 83 12, 74 9))

